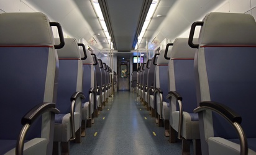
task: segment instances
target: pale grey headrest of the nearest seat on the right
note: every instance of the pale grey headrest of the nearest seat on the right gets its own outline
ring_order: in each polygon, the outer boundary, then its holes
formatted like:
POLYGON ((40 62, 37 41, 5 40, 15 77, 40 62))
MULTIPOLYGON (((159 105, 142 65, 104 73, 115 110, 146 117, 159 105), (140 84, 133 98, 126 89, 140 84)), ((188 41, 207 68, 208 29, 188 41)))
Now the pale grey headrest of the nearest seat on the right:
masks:
POLYGON ((256 22, 249 14, 212 12, 204 18, 201 45, 256 45, 256 22))

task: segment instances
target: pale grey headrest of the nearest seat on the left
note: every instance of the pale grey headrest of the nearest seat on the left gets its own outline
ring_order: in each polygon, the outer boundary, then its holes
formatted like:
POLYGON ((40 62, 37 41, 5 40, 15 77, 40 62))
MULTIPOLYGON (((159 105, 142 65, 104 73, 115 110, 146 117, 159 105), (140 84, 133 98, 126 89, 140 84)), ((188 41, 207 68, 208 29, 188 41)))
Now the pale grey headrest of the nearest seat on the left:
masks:
POLYGON ((53 46, 48 17, 40 12, 0 14, 0 45, 53 46))

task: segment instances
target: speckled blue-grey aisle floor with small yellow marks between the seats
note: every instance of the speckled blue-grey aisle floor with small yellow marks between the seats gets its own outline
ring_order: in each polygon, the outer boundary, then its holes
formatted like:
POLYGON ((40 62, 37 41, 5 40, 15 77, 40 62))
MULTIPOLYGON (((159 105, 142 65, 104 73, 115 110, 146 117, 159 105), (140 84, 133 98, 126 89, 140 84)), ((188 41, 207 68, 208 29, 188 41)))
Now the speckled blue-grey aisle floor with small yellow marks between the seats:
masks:
POLYGON ((70 143, 70 154, 181 154, 181 142, 168 142, 132 92, 116 92, 94 119, 82 143, 70 143))

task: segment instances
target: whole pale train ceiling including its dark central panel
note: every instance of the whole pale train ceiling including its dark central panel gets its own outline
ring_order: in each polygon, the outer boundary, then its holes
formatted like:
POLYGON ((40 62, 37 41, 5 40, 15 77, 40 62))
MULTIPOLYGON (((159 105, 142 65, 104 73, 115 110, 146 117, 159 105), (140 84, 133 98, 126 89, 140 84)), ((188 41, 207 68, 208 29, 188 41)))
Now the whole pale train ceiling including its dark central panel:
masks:
MULTIPOLYGON (((76 39, 96 39, 94 48, 99 51, 109 50, 106 36, 99 24, 99 19, 89 0, 24 0, 38 11, 48 15, 50 20, 60 22, 63 30, 76 39)), ((116 53, 124 54, 134 50, 141 24, 145 20, 148 3, 152 0, 99 0, 103 10, 104 20, 107 22, 116 53), (119 52, 117 52, 119 51, 119 52)), ((139 49, 157 47, 152 43, 155 38, 174 40, 179 37, 196 20, 213 10, 225 0, 160 0, 153 14, 149 27, 145 32, 139 49), (162 15, 157 17, 157 15, 162 15)))

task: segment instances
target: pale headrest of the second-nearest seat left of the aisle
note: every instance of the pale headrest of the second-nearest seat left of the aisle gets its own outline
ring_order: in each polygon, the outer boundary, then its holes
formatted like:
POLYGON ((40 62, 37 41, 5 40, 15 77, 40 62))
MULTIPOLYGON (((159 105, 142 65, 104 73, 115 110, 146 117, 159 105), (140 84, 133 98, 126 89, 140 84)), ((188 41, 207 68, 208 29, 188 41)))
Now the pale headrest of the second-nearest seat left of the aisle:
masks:
MULTIPOLYGON (((80 51, 78 50, 78 43, 75 38, 64 38, 65 45, 63 48, 58 49, 58 58, 81 58, 80 51)), ((55 38, 55 43, 60 43, 59 38, 55 38)))

